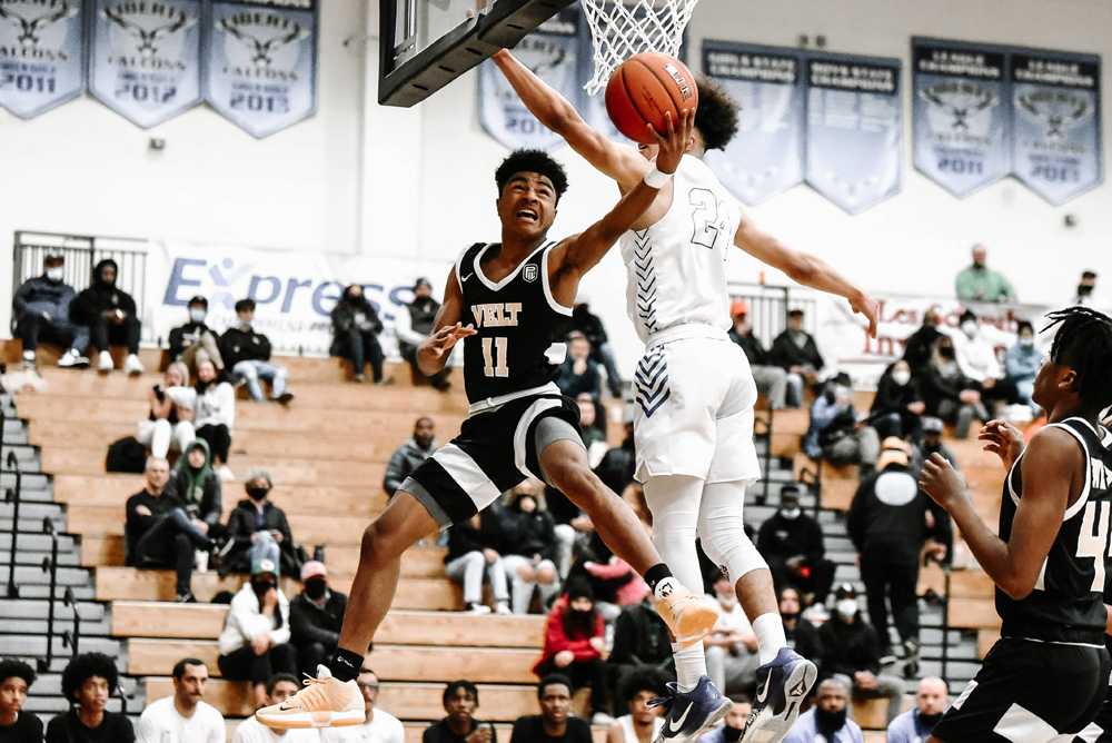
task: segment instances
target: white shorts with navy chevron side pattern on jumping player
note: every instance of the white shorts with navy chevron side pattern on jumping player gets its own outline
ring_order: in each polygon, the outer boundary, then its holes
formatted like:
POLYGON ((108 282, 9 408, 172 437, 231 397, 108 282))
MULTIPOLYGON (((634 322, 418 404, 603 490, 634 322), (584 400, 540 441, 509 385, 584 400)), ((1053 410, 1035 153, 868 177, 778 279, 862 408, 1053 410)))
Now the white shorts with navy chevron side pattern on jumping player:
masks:
POLYGON ((755 482, 757 387, 745 353, 728 338, 685 338, 645 351, 634 375, 636 477, 688 475, 707 483, 755 482))

